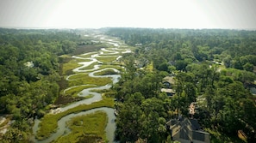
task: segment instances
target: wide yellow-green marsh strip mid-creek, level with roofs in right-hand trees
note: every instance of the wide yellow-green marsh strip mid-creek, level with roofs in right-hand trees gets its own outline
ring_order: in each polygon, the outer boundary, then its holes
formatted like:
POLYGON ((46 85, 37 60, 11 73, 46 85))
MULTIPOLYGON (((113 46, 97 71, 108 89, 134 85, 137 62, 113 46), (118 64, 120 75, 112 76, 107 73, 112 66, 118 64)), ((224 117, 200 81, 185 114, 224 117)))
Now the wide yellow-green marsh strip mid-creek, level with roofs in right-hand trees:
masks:
POLYGON ((97 86, 105 86, 112 82, 111 78, 94 78, 90 77, 88 74, 76 74, 71 76, 68 81, 69 86, 80 86, 80 85, 97 85, 97 86))

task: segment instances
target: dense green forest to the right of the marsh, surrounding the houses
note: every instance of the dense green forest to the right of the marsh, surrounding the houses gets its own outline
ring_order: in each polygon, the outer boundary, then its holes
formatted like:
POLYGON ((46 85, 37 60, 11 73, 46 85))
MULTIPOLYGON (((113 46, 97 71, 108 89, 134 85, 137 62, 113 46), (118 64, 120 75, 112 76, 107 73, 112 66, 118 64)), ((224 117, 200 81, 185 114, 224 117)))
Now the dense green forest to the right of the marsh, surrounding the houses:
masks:
POLYGON ((256 80, 255 31, 109 28, 107 33, 137 47, 123 57, 128 72, 115 86, 119 140, 166 140, 165 122, 178 114, 190 117, 193 102, 194 117, 212 140, 235 141, 241 130, 247 142, 256 139, 250 92, 256 80), (166 75, 175 80, 172 98, 159 92, 166 75))

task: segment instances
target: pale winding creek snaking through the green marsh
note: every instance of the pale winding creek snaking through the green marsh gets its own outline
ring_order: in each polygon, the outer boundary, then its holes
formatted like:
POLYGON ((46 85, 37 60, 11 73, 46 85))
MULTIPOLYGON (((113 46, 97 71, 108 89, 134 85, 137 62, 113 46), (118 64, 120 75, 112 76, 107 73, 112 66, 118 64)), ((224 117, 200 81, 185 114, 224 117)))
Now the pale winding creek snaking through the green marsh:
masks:
MULTIPOLYGON (((113 54, 115 54, 115 55, 120 54, 119 56, 115 56, 116 60, 118 60, 119 58, 122 57, 121 56, 122 53, 127 53, 127 52, 131 52, 131 51, 128 50, 128 49, 119 48, 121 44, 118 41, 116 41, 115 39, 107 39, 103 35, 98 35, 97 38, 99 40, 103 40, 101 42, 105 42, 109 45, 114 45, 116 48, 111 48, 111 49, 108 49, 108 50, 105 49, 105 48, 102 48, 101 51, 99 51, 99 52, 84 53, 83 55, 91 54, 91 57, 88 57, 88 58, 73 56, 73 58, 84 59, 86 61, 91 60, 89 62, 78 63, 81 66, 76 68, 76 69, 73 69, 73 72, 75 72, 75 73, 88 73, 89 76, 97 77, 97 78, 99 78, 99 77, 110 77, 112 79, 112 84, 115 84, 121 78, 120 74, 95 75, 95 73, 101 72, 101 71, 107 70, 107 69, 111 69, 111 70, 114 70, 116 73, 120 73, 120 71, 117 70, 117 69, 113 69, 113 68, 100 69, 100 64, 95 65, 93 69, 86 69, 86 70, 83 70, 83 69, 85 67, 90 66, 92 63, 102 63, 102 62, 97 60, 97 57, 111 57, 111 55, 113 55, 113 54), (104 53, 104 52, 107 52, 107 53, 104 53), (100 69, 100 70, 98 70, 98 69, 100 69)), ((70 80, 70 78, 74 75, 75 74, 67 76, 66 80, 70 80)), ((97 102, 97 101, 102 99, 101 93, 91 92, 91 91, 92 90, 109 89, 112 84, 107 84, 105 86, 90 85, 90 86, 95 86, 95 87, 90 87, 90 88, 84 89, 83 91, 78 93, 78 96, 85 97, 85 96, 88 96, 88 95, 91 94, 91 95, 93 95, 92 98, 86 98, 84 100, 69 104, 69 105, 67 105, 65 107, 62 107, 62 108, 59 108, 58 110, 61 112, 61 111, 72 109, 72 108, 78 106, 79 104, 92 104, 94 102, 97 102)), ((89 85, 81 85, 81 86, 89 86, 89 85)), ((69 87, 64 92, 66 92, 67 90, 72 89, 74 87, 76 87, 76 86, 69 87)), ((51 142, 53 140, 58 139, 62 135, 69 134, 71 132, 71 130, 66 127, 66 122, 67 121, 69 121, 74 116, 82 116, 82 115, 91 114, 91 113, 96 112, 97 110, 103 110, 104 112, 107 113, 108 123, 107 123, 107 127, 105 128, 105 131, 106 131, 107 139, 109 140, 109 142, 110 143, 114 142, 115 129, 116 129, 116 123, 115 123, 116 116, 114 115, 114 109, 107 108, 107 107, 81 111, 81 112, 76 113, 76 114, 69 114, 67 116, 64 116, 58 121, 57 131, 55 133, 51 134, 51 136, 49 138, 47 138, 46 140, 36 140, 34 138, 33 140, 34 140, 34 142, 38 142, 38 143, 48 143, 48 142, 51 142)), ((36 134, 37 130, 39 129, 40 122, 41 121, 38 120, 38 119, 34 120, 33 134, 36 134)))

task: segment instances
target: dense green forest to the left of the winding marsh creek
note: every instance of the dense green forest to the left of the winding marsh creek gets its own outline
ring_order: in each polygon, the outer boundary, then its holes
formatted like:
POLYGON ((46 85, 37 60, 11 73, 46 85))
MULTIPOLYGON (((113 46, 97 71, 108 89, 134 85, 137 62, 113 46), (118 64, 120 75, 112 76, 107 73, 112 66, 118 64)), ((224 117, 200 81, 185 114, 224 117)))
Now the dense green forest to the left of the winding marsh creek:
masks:
POLYGON ((59 56, 75 51, 79 35, 3 28, 0 33, 0 111, 16 120, 5 140, 28 141, 28 119, 43 116, 59 96, 59 56))

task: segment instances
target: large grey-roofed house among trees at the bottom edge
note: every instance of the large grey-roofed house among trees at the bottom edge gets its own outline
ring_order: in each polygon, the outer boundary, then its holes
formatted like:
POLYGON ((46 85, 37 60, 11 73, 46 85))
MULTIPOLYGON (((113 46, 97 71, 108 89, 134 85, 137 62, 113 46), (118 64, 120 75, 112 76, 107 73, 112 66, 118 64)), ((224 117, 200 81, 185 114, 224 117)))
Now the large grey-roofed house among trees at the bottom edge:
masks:
POLYGON ((170 129, 172 140, 182 143, 209 143, 209 133, 200 129, 196 119, 179 118, 166 123, 170 129))

